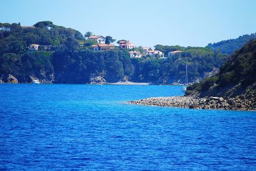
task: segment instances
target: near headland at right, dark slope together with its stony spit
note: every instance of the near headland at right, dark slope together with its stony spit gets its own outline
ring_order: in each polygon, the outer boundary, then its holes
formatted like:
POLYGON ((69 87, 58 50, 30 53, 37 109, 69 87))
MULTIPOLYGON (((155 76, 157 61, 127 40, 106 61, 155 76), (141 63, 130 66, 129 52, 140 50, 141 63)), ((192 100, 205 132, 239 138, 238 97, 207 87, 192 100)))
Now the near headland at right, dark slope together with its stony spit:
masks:
POLYGON ((161 107, 256 110, 256 40, 232 54, 219 73, 189 85, 185 96, 147 98, 128 103, 161 107))

